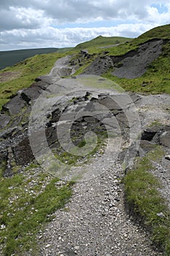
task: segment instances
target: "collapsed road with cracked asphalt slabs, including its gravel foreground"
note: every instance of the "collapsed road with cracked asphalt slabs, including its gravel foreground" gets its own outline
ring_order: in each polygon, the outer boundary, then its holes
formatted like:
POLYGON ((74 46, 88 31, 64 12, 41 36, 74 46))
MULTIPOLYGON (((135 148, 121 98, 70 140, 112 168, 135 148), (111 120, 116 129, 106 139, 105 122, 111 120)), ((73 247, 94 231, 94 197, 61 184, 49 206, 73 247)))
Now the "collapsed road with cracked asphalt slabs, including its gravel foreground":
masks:
MULTIPOLYGON (((166 154, 170 153, 166 143, 170 130, 170 97, 128 95, 112 81, 95 75, 62 78, 75 72, 76 67, 69 65, 69 59, 59 59, 49 75, 37 78, 28 89, 18 91, 4 105, 0 116, 0 157, 6 163, 4 177, 14 175, 14 162, 23 170, 36 158, 48 173, 61 178, 58 186, 67 180, 77 181, 70 202, 56 211, 53 221, 39 232, 39 253, 42 256, 161 255, 151 245, 149 234, 134 224, 125 211, 120 181, 124 176, 123 161, 131 166, 136 154, 147 151, 144 143, 148 137, 144 134, 157 135, 159 140, 155 143, 161 143, 166 154), (161 127, 157 127, 155 133, 152 128, 147 131, 146 127, 155 119, 161 127), (94 152, 91 159, 86 159, 96 146, 95 134, 104 132, 108 135, 105 146, 94 152), (143 147, 139 140, 141 132, 143 147), (82 138, 93 141, 89 143, 92 148, 78 147, 82 138), (136 146, 131 147, 134 143, 136 146), (58 153, 61 147, 71 154, 80 154, 83 160, 73 167, 59 162, 57 170, 51 171, 48 168, 51 159, 53 161, 51 152, 58 153)), ((166 170, 170 166, 168 160, 163 159, 163 163, 161 168, 165 171, 156 175, 164 182, 162 195, 168 199, 166 170)), ((34 255, 34 250, 26 255, 34 255)))

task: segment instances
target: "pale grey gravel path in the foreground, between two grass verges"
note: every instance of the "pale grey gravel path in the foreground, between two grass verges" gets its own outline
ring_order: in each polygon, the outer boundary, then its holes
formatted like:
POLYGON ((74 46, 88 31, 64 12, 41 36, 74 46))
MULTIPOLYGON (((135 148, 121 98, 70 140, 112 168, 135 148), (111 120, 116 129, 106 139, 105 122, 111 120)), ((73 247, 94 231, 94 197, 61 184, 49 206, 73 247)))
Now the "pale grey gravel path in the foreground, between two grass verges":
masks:
POLYGON ((71 201, 39 233, 41 255, 161 255, 142 228, 128 219, 122 177, 117 163, 101 176, 75 184, 71 201))

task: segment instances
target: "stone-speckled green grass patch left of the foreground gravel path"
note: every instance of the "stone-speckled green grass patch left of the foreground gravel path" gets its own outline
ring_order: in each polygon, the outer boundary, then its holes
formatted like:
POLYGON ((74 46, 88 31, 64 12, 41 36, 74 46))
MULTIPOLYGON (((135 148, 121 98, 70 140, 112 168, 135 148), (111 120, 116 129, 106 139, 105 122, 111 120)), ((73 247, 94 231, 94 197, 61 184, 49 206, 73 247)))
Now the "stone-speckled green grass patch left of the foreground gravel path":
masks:
POLYGON ((58 188, 57 181, 45 173, 35 176, 33 170, 30 178, 23 174, 1 178, 0 226, 4 229, 0 229, 0 243, 4 256, 23 256, 30 249, 31 255, 39 255, 37 233, 72 195, 72 182, 58 188))

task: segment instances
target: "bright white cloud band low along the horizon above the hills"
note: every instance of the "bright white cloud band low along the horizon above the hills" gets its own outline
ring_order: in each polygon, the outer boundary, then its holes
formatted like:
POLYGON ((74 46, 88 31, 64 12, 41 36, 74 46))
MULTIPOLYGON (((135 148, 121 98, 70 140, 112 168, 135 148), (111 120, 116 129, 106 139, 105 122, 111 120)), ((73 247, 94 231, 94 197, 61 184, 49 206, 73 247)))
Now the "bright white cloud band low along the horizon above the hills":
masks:
MULTIPOLYGON (((105 37, 137 37, 144 31, 151 29, 150 24, 120 24, 115 27, 101 28, 66 28, 57 29, 52 27, 42 29, 14 29, 12 31, 3 31, 0 37, 5 38, 10 42, 11 49, 15 49, 16 45, 19 48, 64 48, 75 46, 79 42, 93 39, 98 35, 105 37)), ((6 42, 0 41, 1 49, 5 50, 6 42)))

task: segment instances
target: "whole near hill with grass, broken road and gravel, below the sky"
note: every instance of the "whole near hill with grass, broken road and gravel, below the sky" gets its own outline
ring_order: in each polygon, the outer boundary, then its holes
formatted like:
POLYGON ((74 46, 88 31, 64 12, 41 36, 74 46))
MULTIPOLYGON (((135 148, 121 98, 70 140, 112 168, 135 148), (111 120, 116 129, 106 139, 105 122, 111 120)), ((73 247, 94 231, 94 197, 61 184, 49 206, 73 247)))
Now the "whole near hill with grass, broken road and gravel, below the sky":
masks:
POLYGON ((169 28, 0 71, 1 256, 170 255, 169 28))

